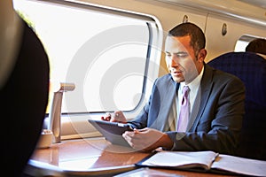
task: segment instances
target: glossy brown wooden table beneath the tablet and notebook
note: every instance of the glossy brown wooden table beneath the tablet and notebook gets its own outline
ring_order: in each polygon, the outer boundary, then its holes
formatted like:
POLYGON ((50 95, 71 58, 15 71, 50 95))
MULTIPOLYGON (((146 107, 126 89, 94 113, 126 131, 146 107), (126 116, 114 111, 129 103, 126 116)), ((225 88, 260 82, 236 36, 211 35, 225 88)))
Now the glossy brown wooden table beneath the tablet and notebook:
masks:
MULTIPOLYGON (((113 145, 104 138, 65 140, 36 149, 25 173, 32 176, 113 176, 137 169, 134 165, 150 153, 113 145)), ((181 176, 225 176, 214 173, 153 169, 181 176)), ((228 176, 228 175, 227 175, 228 176)))

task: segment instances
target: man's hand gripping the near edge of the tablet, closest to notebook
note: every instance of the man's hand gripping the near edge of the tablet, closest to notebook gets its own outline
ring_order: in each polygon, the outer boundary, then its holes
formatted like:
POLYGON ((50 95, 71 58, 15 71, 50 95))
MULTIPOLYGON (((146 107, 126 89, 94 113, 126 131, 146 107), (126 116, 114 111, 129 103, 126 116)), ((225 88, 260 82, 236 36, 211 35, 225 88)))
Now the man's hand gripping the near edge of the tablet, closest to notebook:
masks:
POLYGON ((171 149, 174 144, 167 134, 149 127, 126 131, 122 136, 135 150, 152 151, 159 147, 171 149))

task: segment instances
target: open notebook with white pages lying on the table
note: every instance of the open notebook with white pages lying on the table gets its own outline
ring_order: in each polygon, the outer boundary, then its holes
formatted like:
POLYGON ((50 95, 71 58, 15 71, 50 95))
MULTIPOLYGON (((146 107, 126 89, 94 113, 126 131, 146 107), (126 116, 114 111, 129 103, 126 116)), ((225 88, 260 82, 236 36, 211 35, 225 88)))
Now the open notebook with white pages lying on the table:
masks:
POLYGON ((214 173, 266 176, 266 161, 223 155, 214 151, 162 150, 136 164, 145 167, 187 169, 214 173))

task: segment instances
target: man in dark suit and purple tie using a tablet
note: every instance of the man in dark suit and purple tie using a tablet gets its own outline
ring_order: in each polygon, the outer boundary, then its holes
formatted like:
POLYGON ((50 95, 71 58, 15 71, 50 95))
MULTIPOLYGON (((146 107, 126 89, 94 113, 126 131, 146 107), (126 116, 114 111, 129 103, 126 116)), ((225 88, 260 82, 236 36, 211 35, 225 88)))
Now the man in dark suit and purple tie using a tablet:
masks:
POLYGON ((136 150, 162 147, 235 154, 244 114, 244 84, 205 64, 205 35, 192 23, 171 29, 165 46, 170 73, 154 82, 152 95, 137 118, 127 122, 122 112, 115 112, 114 117, 103 119, 135 128, 123 137, 136 150), (185 129, 178 130, 184 122, 179 115, 184 86, 189 88, 189 119, 185 129))

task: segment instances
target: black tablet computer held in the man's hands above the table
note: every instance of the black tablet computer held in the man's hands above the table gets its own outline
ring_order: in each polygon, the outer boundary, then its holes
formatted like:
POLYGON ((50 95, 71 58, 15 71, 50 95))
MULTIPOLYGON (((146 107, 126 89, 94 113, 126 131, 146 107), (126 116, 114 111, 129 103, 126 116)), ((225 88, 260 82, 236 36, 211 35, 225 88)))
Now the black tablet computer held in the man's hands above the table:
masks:
POLYGON ((90 124, 106 137, 108 142, 130 147, 129 143, 122 137, 125 131, 132 131, 128 124, 109 122, 105 120, 88 119, 90 124))

